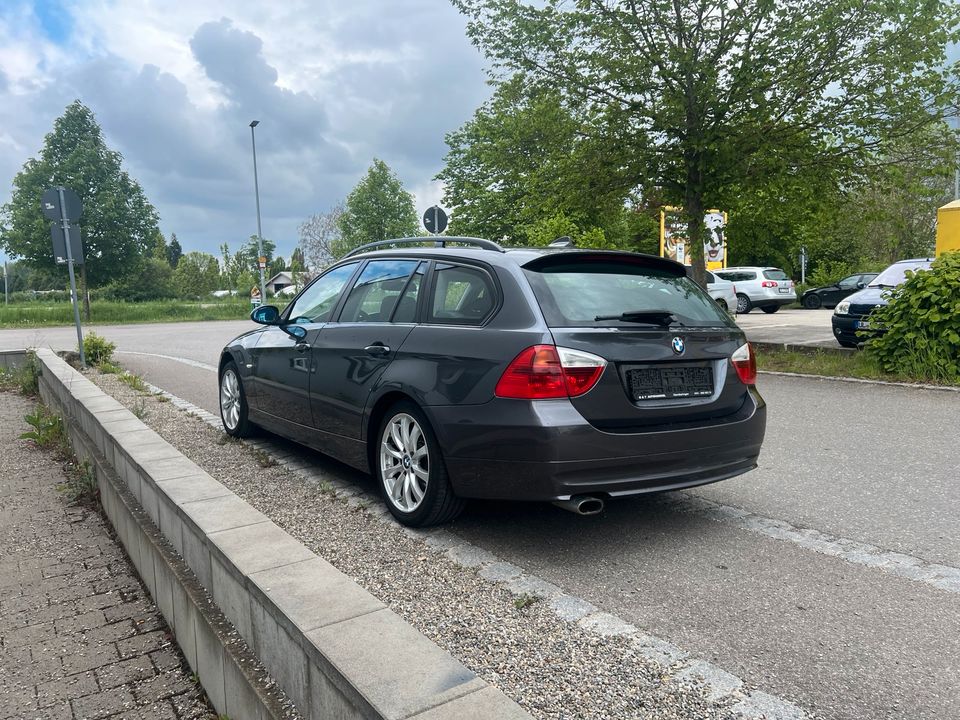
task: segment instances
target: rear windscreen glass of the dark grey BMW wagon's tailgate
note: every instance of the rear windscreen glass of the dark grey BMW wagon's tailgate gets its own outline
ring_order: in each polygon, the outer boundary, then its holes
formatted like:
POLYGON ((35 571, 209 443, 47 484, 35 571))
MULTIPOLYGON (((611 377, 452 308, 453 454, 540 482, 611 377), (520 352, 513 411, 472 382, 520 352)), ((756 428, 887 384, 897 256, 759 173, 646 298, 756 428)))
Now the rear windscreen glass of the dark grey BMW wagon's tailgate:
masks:
POLYGON ((654 310, 673 313, 688 326, 733 324, 695 282, 656 267, 591 262, 525 268, 524 273, 550 327, 636 326, 638 323, 596 318, 654 310))

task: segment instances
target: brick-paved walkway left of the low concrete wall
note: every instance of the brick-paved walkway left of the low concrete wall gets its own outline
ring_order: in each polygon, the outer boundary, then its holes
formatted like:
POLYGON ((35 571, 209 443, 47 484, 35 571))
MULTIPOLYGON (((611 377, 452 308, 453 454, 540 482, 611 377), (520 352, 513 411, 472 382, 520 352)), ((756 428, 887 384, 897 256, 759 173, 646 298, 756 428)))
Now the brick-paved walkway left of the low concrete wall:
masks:
POLYGON ((0 392, 0 720, 216 715, 99 513, 67 504, 0 392))

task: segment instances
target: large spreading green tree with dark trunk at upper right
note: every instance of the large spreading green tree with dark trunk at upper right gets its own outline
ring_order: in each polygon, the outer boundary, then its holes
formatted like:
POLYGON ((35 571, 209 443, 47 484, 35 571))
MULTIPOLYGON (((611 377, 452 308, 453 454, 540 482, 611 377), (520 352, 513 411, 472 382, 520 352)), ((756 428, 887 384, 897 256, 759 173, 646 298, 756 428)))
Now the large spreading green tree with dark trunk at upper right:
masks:
POLYGON ((497 72, 526 73, 629 140, 636 184, 684 208, 701 282, 704 210, 775 170, 771 148, 797 151, 794 167, 856 164, 938 122, 960 86, 944 71, 951 3, 452 1, 497 72))

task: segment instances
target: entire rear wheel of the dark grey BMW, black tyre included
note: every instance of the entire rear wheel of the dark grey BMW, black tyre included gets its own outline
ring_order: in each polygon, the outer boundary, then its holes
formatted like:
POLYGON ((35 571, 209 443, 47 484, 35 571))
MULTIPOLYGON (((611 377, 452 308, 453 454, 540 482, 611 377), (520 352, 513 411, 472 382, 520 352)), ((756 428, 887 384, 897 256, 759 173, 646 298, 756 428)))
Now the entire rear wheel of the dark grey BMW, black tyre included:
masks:
POLYGON ((437 436, 423 411, 401 401, 383 416, 371 453, 373 475, 390 513, 409 527, 453 520, 466 505, 456 496, 437 436))

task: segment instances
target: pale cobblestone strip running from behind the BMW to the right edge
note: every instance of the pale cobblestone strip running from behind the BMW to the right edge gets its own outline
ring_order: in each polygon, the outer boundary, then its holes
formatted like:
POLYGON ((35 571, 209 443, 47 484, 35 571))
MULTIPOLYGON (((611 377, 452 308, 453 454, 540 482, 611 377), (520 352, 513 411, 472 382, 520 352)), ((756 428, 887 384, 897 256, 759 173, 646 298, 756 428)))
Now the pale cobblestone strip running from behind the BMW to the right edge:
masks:
POLYGON ((854 565, 874 568, 908 580, 926 583, 939 590, 960 593, 960 569, 927 562, 912 555, 884 550, 876 545, 830 535, 819 530, 800 528, 783 520, 755 515, 747 510, 721 505, 712 500, 677 493, 664 496, 668 506, 717 522, 730 523, 744 530, 786 540, 806 550, 846 560, 854 565))

